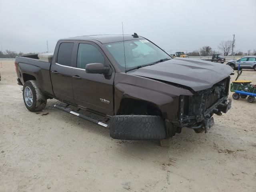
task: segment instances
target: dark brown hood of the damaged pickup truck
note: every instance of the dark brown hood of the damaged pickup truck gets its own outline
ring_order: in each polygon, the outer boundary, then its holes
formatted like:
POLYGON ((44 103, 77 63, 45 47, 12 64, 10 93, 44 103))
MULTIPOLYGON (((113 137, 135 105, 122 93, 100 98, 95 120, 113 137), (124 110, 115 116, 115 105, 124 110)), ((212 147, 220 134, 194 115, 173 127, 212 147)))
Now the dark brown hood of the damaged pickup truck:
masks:
POLYGON ((130 74, 180 84, 200 91, 211 88, 232 73, 228 65, 191 58, 173 58, 139 68, 130 74))

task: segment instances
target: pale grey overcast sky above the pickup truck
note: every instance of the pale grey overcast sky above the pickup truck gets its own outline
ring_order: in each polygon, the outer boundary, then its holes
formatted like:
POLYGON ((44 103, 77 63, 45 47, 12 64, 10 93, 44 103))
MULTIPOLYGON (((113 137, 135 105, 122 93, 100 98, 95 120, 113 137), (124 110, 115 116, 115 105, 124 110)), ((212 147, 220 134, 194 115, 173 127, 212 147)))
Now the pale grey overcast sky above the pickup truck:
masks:
POLYGON ((136 32, 166 51, 232 40, 256 49, 256 0, 0 0, 2 50, 54 51, 60 38, 136 32))

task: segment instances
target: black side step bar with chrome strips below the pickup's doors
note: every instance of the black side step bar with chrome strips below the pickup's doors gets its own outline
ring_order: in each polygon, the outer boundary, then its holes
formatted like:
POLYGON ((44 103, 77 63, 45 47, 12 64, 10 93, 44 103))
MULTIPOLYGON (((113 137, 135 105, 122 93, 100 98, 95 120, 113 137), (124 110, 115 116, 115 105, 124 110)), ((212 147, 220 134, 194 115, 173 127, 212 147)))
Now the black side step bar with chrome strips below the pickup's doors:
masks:
POLYGON ((74 112, 74 111, 72 111, 73 109, 71 109, 71 108, 67 108, 65 106, 61 106, 61 105, 57 105, 57 104, 55 104, 54 107, 57 108, 57 109, 60 109, 62 111, 65 111, 67 113, 71 113, 71 114, 73 114, 75 116, 78 116, 78 117, 80 117, 82 119, 85 119, 85 120, 88 120, 90 122, 96 123, 96 124, 98 124, 100 126, 103 126, 103 127, 107 127, 108 126, 108 124, 106 124, 106 122, 102 122, 102 121, 98 120, 97 118, 91 117, 89 115, 85 115, 85 114, 82 115, 82 114, 80 114, 78 112, 74 112))

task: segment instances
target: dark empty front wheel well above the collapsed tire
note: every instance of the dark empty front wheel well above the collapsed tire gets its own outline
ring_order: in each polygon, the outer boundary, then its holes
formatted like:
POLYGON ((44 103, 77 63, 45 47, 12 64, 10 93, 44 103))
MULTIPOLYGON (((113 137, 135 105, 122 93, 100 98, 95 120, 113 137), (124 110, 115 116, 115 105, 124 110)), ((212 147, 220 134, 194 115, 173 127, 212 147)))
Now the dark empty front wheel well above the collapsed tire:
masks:
POLYGON ((117 115, 156 115, 162 116, 161 110, 155 104, 143 100, 122 99, 117 115))

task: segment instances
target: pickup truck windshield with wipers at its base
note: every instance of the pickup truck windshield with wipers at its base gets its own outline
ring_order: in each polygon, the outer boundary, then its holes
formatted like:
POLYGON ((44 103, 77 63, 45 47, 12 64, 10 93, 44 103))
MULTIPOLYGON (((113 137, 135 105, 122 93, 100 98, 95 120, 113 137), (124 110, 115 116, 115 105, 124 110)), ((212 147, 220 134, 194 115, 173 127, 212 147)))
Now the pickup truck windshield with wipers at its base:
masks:
POLYGON ((158 60, 171 59, 166 52, 146 39, 110 43, 106 44, 106 48, 123 72, 137 66, 153 64, 158 60))

